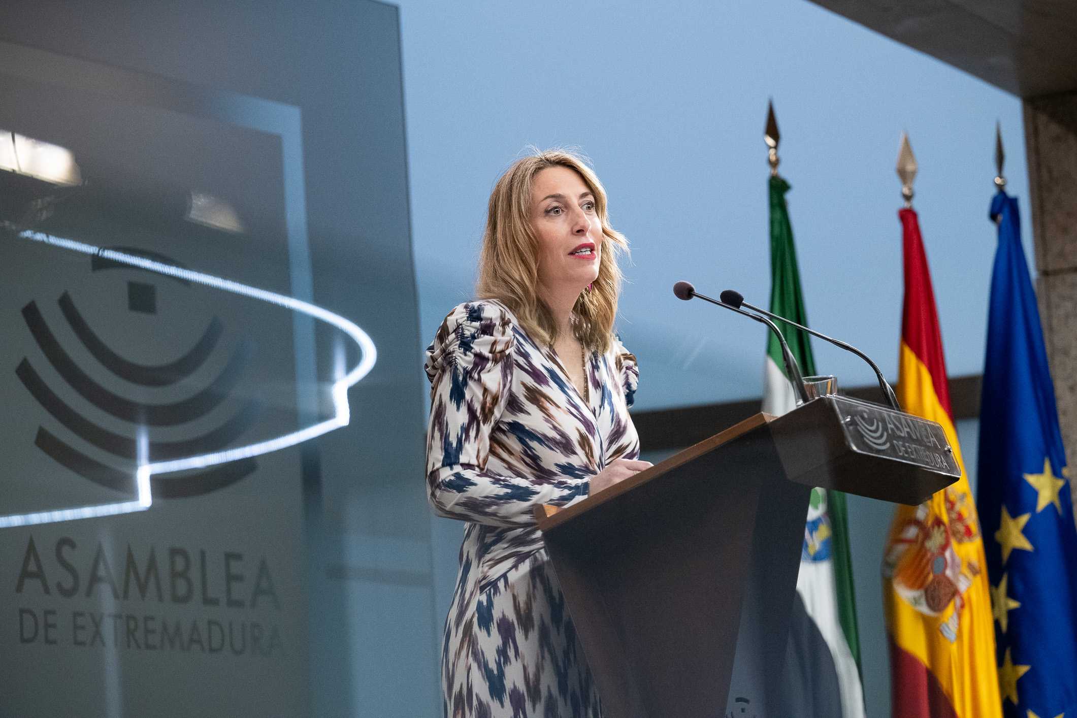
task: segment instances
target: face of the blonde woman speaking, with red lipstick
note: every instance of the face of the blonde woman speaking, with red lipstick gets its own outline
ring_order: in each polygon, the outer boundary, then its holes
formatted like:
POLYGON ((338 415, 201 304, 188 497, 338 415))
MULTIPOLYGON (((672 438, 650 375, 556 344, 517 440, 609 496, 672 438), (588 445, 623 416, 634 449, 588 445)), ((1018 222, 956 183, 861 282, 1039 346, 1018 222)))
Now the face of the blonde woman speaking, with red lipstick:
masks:
POLYGON ((531 187, 531 226, 538 241, 538 284, 575 296, 599 276, 602 222, 595 195, 575 170, 548 167, 531 187))

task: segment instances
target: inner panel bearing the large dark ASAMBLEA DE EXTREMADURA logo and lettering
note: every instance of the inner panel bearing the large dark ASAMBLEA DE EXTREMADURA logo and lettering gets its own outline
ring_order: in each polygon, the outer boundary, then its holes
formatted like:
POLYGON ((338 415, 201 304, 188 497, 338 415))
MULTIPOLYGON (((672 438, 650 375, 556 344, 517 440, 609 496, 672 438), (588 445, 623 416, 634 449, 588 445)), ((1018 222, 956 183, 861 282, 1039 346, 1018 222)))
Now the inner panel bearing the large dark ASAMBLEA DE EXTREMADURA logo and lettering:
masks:
MULTIPOLYGON (((140 456, 294 432, 292 312, 16 234, 291 294, 281 137, 10 76, 0 95, 19 161, 0 172, 0 515, 124 505, 140 456)), ((211 695, 305 715, 302 489, 278 451, 154 476, 146 511, 0 529, 3 713, 198 715, 211 695)))

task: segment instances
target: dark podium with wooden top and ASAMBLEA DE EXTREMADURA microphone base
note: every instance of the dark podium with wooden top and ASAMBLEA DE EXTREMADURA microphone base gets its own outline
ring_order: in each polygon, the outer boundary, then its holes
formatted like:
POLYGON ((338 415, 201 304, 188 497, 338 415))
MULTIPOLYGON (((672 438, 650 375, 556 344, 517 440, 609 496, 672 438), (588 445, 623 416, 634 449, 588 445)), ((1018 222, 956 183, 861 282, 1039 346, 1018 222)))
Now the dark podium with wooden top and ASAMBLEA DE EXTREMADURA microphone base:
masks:
POLYGON ((535 509, 607 718, 724 716, 735 664, 779 685, 812 487, 915 505, 960 476, 935 422, 831 395, 535 509))

